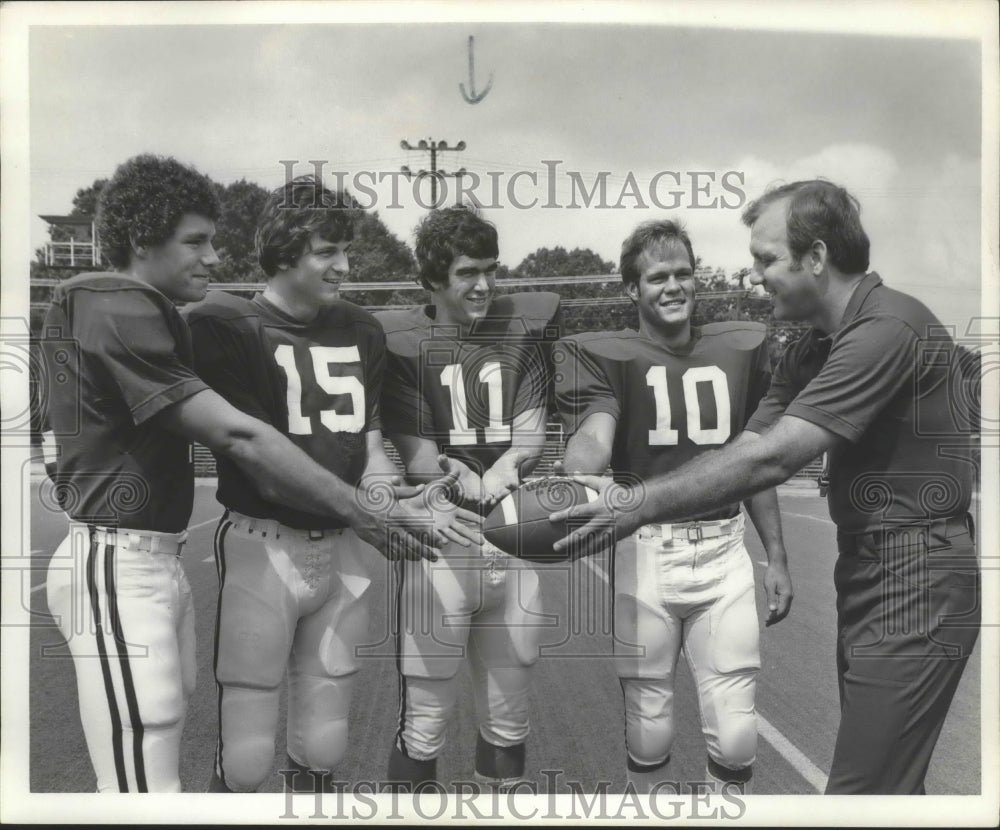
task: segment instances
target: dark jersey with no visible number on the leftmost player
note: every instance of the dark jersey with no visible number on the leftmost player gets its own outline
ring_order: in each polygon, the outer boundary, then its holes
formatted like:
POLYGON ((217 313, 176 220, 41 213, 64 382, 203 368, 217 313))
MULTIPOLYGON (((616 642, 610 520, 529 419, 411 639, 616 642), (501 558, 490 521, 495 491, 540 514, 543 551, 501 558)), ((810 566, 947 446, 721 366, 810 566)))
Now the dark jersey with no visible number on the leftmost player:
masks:
POLYGON ((63 509, 88 524, 184 530, 190 442, 154 416, 206 386, 173 303, 132 277, 80 274, 56 287, 42 353, 63 509))

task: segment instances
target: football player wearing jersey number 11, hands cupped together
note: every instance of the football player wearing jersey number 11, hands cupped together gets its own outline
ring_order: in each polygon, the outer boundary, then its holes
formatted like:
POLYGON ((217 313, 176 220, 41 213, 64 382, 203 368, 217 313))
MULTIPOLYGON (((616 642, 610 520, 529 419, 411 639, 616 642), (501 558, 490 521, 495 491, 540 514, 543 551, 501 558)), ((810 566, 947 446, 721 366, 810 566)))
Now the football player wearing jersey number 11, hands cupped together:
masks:
MULTIPOLYGON (((389 347, 383 420, 411 477, 435 475, 444 453, 461 470, 455 501, 485 513, 541 457, 546 337, 555 339, 559 300, 495 296, 496 229, 463 207, 428 214, 416 254, 432 302, 379 315, 389 347)), ((390 781, 435 779, 465 654, 480 718, 477 778, 497 787, 520 780, 540 622, 531 563, 488 543, 449 546, 437 563, 400 563, 397 577, 400 717, 390 781)))

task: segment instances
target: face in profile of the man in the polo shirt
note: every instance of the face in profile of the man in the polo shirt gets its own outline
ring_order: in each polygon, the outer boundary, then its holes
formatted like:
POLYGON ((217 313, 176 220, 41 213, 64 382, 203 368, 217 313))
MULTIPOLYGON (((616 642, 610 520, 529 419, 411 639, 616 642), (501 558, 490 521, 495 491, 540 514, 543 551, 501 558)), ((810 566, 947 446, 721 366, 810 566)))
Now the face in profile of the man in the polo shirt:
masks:
POLYGON ((820 310, 819 288, 803 260, 788 248, 787 205, 787 199, 772 202, 750 229, 750 282, 771 295, 776 320, 810 320, 820 310))

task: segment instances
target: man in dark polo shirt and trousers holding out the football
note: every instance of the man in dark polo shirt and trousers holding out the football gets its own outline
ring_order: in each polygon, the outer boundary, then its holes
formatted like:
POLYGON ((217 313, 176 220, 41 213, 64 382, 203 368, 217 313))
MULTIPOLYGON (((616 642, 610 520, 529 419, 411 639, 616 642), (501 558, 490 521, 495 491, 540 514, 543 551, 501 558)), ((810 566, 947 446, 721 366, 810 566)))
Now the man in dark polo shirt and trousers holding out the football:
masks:
POLYGON ((647 482, 641 499, 606 492, 573 508, 591 521, 559 546, 582 548, 609 522, 623 538, 742 500, 827 451, 841 700, 827 793, 917 794, 979 633, 975 467, 953 399, 955 344, 926 306, 867 273, 859 214, 825 181, 747 207, 751 281, 771 294, 777 319, 813 328, 785 352, 735 441, 647 482), (608 506, 628 504, 639 506, 608 506))

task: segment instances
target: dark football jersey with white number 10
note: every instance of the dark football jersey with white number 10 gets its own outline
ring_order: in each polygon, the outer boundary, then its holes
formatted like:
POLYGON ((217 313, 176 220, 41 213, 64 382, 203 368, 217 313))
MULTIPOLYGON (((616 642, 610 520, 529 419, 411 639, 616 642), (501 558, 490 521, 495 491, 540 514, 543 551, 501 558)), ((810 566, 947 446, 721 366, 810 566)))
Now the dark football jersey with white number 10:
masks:
POLYGON ((604 412, 616 422, 611 469, 619 481, 676 470, 742 431, 770 380, 766 333, 760 323, 710 323, 693 327, 679 349, 630 329, 560 340, 555 391, 567 434, 604 412))

